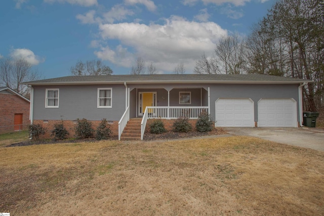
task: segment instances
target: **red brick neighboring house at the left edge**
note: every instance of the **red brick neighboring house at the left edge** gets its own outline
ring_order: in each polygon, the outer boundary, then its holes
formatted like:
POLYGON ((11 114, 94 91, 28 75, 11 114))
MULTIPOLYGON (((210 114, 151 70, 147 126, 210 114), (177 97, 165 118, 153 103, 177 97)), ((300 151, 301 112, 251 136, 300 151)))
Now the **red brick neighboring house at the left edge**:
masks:
POLYGON ((0 133, 19 131, 29 124, 30 101, 9 87, 0 87, 0 133))

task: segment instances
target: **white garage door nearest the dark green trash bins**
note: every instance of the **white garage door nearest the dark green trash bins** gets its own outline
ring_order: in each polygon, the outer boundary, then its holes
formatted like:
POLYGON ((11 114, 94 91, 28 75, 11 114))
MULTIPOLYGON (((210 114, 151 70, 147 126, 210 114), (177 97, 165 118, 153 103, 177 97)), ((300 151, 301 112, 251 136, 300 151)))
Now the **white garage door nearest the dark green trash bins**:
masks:
POLYGON ((293 98, 260 99, 258 127, 297 127, 297 102, 293 98))

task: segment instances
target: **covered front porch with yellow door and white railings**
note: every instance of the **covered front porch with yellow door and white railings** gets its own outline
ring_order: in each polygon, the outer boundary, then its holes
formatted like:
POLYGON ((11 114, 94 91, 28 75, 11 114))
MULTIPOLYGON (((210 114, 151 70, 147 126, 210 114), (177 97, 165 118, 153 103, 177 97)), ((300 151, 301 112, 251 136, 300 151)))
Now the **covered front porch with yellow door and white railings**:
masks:
MULTIPOLYGON (((169 84, 170 85, 170 84, 169 84)), ((129 119, 142 118, 141 140, 148 119, 197 119, 203 112, 210 114, 210 89, 205 86, 133 86, 127 88, 126 111, 120 119, 119 139, 129 119)))

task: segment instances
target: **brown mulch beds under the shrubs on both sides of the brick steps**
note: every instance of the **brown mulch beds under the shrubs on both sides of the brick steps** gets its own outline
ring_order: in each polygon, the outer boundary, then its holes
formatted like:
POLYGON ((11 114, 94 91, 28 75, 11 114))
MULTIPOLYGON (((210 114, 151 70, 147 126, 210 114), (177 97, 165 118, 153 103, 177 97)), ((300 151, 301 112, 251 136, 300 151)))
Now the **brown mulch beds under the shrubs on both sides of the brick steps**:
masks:
MULTIPOLYGON (((179 139, 179 138, 212 136, 212 135, 221 135, 221 134, 227 134, 227 132, 222 130, 221 128, 214 128, 210 132, 190 131, 188 133, 178 133, 178 132, 168 131, 161 134, 151 134, 147 132, 144 134, 143 140, 148 141, 148 140, 158 140, 158 139, 179 139)), ((118 136, 111 136, 110 139, 108 140, 118 140, 118 136)), ((73 143, 73 142, 98 142, 98 140, 94 138, 64 139, 64 140, 55 140, 55 139, 28 140, 28 141, 14 143, 8 147, 32 146, 32 145, 42 145, 42 144, 54 144, 54 143, 73 143)))

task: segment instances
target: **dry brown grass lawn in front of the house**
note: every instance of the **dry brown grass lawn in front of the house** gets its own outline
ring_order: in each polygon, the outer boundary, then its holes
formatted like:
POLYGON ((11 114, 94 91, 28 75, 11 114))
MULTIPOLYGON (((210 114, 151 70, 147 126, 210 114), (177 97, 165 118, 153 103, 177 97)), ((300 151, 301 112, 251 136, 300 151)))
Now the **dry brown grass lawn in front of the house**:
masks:
POLYGON ((1 148, 13 215, 320 215, 324 153, 233 136, 1 148))

